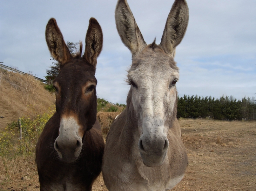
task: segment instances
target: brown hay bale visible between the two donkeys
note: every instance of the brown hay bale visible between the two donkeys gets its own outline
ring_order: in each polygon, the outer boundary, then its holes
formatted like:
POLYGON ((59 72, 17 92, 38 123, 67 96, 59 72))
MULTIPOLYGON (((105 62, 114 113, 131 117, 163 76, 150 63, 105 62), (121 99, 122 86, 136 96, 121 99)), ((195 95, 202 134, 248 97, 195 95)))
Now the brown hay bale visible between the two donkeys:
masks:
POLYGON ((97 119, 101 124, 102 133, 108 133, 110 125, 114 122, 115 117, 119 115, 120 112, 103 112, 100 111, 97 113, 97 119))

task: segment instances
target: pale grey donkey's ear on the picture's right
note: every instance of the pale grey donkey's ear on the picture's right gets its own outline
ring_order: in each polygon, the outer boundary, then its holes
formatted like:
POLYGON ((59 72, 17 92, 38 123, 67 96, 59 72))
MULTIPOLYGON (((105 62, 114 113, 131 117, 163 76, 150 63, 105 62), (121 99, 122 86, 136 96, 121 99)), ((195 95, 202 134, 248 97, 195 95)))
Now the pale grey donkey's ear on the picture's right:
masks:
POLYGON ((175 54, 175 48, 185 35, 188 26, 188 5, 186 0, 175 0, 168 15, 160 46, 168 54, 175 54))

